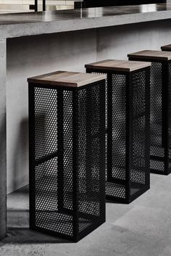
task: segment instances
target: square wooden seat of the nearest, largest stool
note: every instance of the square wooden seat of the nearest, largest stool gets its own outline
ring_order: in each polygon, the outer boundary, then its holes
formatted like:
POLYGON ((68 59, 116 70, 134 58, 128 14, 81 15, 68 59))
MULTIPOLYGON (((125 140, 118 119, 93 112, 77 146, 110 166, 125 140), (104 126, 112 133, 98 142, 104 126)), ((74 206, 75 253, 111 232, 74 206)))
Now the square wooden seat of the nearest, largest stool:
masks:
POLYGON ((57 71, 28 78, 28 83, 41 83, 49 86, 80 87, 106 78, 106 75, 94 75, 78 72, 57 71))

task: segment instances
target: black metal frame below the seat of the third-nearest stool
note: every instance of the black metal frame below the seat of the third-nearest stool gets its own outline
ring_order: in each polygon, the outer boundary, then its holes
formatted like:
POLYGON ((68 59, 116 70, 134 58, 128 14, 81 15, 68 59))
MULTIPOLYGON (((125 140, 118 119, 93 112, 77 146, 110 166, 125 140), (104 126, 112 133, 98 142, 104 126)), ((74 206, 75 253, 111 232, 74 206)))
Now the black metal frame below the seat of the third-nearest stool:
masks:
MULTIPOLYGON (((130 60, 137 60, 137 58, 134 57, 129 57, 130 60)), ((153 58, 146 58, 146 57, 141 57, 138 58, 139 61, 144 61, 144 62, 151 62, 151 90, 152 87, 155 86, 156 88, 159 87, 161 90, 161 94, 157 92, 157 97, 161 101, 161 123, 160 125, 162 126, 162 133, 161 133, 161 149, 163 149, 163 153, 158 153, 155 154, 154 152, 151 154, 151 166, 153 166, 152 162, 155 162, 156 168, 150 169, 151 173, 157 173, 157 174, 162 174, 162 175, 169 175, 171 173, 171 144, 170 144, 170 131, 171 131, 171 112, 170 112, 170 96, 171 96, 171 61, 165 61, 161 59, 153 59, 153 58), (161 67, 156 67, 155 65, 159 64, 161 67), (154 67, 153 67, 154 65, 154 67), (161 84, 154 82, 153 78, 155 76, 154 70, 157 73, 161 73, 161 84), (163 167, 161 167, 163 163, 163 167), (159 164, 159 165, 158 165, 159 164), (157 166, 158 165, 158 166, 157 166), (158 167, 158 168, 157 168, 158 167)), ((157 98, 152 97, 151 93, 151 103, 157 101, 157 98)), ((159 107, 159 106, 158 106, 159 107)), ((151 117, 152 119, 152 117, 151 117)), ((151 136, 152 135, 152 126, 151 126, 151 136)), ((151 142, 151 151, 152 151, 152 142, 151 142)))

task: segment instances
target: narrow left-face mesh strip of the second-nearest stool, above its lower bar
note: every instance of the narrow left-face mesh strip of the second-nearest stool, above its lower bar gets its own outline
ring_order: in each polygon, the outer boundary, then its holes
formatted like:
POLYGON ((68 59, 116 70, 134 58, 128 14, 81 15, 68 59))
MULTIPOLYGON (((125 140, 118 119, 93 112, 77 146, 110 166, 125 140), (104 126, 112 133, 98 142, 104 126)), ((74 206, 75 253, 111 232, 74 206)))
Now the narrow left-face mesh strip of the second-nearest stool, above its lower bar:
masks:
POLYGON ((126 76, 112 74, 112 178, 125 180, 126 76))

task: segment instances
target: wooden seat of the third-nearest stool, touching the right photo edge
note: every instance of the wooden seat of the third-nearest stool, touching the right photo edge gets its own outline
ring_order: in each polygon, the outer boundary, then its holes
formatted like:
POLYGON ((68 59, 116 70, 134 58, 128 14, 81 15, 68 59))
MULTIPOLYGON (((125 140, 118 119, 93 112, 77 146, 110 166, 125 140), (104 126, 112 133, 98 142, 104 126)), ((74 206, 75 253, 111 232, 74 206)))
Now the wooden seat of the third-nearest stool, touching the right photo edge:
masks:
POLYGON ((131 59, 132 57, 135 59, 153 59, 153 60, 170 60, 171 53, 168 51, 151 51, 151 50, 144 50, 144 51, 137 51, 132 54, 128 54, 128 57, 131 59))

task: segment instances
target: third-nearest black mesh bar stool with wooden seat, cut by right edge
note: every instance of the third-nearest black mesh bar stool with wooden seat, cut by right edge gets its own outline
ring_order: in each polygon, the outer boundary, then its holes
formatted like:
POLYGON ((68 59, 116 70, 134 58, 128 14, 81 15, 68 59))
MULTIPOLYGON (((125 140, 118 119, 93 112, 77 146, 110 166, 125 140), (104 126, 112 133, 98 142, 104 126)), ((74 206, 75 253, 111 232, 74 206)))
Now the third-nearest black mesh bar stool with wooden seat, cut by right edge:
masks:
POLYGON ((151 173, 171 172, 171 53, 138 51, 128 54, 130 60, 151 63, 151 173))

